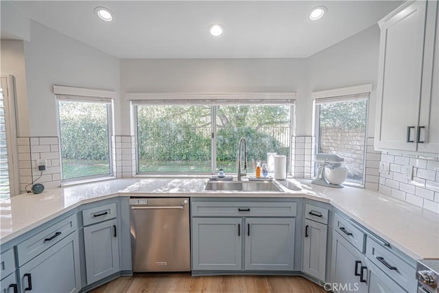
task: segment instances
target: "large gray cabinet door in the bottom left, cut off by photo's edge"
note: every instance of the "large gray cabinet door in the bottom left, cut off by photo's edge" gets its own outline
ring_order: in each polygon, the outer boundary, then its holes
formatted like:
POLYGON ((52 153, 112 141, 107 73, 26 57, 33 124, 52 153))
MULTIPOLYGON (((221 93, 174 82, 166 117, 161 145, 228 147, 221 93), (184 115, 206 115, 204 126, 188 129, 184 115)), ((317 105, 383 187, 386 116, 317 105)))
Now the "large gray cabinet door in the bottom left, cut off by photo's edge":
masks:
POLYGON ((25 292, 29 285, 32 285, 32 292, 79 292, 81 277, 78 232, 60 240, 19 270, 21 292, 25 292))

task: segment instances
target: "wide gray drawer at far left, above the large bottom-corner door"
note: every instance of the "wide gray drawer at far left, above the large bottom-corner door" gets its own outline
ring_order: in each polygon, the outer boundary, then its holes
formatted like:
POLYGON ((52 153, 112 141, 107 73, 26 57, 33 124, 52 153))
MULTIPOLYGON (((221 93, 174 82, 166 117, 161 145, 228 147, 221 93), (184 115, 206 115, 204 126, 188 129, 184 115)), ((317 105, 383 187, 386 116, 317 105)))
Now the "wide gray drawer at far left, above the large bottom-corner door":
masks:
POLYGON ((33 259, 40 253, 43 253, 44 250, 53 246, 70 233, 76 231, 77 228, 78 221, 74 214, 21 242, 16 246, 19 257, 19 266, 27 263, 27 261, 33 259))

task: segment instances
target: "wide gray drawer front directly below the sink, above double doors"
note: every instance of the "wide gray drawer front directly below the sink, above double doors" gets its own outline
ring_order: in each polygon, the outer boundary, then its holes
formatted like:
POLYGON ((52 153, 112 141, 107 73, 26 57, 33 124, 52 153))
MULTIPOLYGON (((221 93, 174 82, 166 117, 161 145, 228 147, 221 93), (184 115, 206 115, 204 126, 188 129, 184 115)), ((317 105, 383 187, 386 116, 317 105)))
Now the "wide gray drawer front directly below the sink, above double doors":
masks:
POLYGON ((192 202, 193 216, 295 217, 296 202, 192 202))

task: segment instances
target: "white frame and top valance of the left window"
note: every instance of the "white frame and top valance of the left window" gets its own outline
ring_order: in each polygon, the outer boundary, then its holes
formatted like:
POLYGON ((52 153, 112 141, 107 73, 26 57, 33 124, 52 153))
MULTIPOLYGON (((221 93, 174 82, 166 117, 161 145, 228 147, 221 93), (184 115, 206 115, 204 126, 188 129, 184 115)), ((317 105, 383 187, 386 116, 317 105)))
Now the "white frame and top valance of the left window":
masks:
POLYGON ((99 180, 102 178, 115 177, 115 170, 113 169, 113 149, 112 149, 112 136, 114 135, 114 123, 113 123, 113 108, 114 99, 116 97, 115 91, 106 91, 99 89, 83 89, 75 88, 71 86, 58 86, 54 85, 54 94, 56 95, 56 119, 57 119, 57 132, 58 132, 58 145, 60 155, 60 181, 61 185, 76 183, 85 180, 99 180), (60 101, 71 102, 88 102, 95 104, 106 104, 107 112, 107 129, 108 129, 108 174, 99 174, 93 176, 81 176, 75 178, 63 179, 62 174, 62 147, 61 147, 61 129, 60 129, 60 101))

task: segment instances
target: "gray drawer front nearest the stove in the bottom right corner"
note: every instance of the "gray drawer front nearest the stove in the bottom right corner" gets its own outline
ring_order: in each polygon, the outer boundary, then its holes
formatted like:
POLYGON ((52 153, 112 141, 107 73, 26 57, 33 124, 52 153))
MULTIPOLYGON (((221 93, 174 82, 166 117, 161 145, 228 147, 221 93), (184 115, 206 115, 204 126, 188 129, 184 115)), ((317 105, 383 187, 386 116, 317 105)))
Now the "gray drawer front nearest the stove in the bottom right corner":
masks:
POLYGON ((390 253, 370 237, 366 241, 366 257, 408 292, 416 291, 416 268, 390 253))

